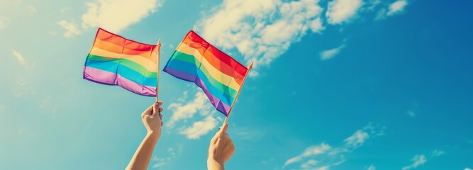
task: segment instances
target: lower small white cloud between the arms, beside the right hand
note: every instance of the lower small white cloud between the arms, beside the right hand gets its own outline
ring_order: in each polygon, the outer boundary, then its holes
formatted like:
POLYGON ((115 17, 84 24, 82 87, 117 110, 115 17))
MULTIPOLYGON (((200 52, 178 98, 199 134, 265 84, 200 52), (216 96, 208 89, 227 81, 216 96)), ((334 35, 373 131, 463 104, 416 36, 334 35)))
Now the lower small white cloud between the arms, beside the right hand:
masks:
POLYGON ((186 135, 189 140, 196 140, 216 128, 217 123, 216 118, 213 118, 212 115, 208 115, 204 120, 195 122, 194 125, 182 130, 180 133, 186 135))

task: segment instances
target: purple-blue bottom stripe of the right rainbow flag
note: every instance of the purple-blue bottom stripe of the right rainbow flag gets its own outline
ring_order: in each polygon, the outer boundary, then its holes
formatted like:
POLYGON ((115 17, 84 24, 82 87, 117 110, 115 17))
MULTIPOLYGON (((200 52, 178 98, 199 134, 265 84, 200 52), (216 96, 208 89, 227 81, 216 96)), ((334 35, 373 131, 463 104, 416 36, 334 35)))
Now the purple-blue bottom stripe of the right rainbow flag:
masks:
POLYGON ((215 106, 215 108, 217 108, 218 111, 220 111, 224 115, 228 115, 228 111, 230 111, 230 106, 226 105, 226 103, 221 102, 221 100, 218 97, 213 96, 210 93, 210 91, 208 91, 204 82, 201 79, 199 79, 199 77, 196 77, 196 75, 189 74, 186 72, 180 72, 175 69, 169 69, 167 67, 165 68, 165 72, 179 79, 194 82, 197 86, 199 86, 202 90, 204 90, 204 93, 206 94, 208 100, 210 100, 212 105, 215 106))

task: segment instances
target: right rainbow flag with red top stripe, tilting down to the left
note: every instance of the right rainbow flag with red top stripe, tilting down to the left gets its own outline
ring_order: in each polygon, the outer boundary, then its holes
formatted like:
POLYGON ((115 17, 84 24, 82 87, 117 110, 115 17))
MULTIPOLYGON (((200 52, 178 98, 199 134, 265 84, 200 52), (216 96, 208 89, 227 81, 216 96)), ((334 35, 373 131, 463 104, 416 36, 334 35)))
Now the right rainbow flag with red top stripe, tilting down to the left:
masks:
POLYGON ((191 30, 177 46, 164 71, 194 82, 218 111, 228 115, 248 69, 191 30))

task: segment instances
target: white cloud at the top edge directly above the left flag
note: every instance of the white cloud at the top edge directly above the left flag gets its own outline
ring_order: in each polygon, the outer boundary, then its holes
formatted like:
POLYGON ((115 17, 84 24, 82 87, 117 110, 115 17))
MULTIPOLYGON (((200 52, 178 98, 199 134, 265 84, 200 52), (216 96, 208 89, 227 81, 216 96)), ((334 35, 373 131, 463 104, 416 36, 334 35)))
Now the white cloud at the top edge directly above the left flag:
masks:
POLYGON ((162 0, 95 0, 87 2, 82 15, 82 28, 102 27, 118 33, 154 13, 162 0))

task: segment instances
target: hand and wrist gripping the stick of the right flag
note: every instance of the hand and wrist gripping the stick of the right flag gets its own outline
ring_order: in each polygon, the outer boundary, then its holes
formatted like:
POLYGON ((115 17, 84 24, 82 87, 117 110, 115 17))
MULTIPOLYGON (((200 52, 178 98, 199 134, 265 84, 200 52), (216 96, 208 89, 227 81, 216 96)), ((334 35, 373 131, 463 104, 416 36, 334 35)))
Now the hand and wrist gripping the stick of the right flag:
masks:
POLYGON ((208 147, 207 169, 223 170, 225 162, 235 153, 235 145, 227 134, 228 124, 224 124, 213 136, 208 147))

